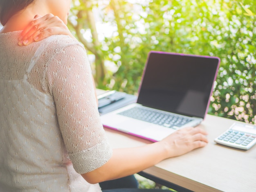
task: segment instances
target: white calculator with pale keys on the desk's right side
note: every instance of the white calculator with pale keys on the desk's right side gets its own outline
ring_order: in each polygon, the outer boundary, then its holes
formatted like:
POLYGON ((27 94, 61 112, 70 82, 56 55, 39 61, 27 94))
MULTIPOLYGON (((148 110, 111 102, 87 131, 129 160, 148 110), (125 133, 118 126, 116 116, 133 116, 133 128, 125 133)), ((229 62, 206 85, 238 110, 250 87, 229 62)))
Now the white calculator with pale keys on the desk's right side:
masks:
POLYGON ((234 123, 214 141, 222 145, 249 150, 256 143, 256 125, 234 123))

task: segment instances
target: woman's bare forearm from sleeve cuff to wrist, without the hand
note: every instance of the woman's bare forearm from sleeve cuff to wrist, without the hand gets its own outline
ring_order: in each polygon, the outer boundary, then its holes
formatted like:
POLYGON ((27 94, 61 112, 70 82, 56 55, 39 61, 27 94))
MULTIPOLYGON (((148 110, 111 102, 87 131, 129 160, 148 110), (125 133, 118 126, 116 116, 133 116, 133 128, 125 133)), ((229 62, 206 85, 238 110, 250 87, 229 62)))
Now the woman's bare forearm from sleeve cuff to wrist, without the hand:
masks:
POLYGON ((167 150, 160 142, 114 149, 111 159, 105 165, 82 176, 89 183, 99 183, 137 173, 166 158, 167 150))

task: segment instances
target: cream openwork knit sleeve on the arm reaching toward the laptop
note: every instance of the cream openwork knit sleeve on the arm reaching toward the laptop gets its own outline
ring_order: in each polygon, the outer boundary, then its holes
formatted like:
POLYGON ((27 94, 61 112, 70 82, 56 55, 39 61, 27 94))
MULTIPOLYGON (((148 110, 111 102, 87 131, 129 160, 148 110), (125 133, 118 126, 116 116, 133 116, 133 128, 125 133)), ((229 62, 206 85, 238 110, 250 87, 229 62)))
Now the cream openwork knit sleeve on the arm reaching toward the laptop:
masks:
POLYGON ((80 174, 90 172, 112 155, 99 117, 90 64, 78 44, 55 53, 47 65, 47 79, 58 123, 74 169, 80 174))

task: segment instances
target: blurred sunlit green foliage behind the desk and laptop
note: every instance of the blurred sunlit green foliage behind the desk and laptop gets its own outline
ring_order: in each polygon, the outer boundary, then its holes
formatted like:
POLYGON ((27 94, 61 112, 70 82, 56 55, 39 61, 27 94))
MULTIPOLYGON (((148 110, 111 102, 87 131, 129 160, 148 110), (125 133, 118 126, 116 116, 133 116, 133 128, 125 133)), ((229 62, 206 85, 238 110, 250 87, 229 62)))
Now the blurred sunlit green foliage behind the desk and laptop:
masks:
POLYGON ((75 0, 69 27, 101 89, 137 94, 150 50, 218 56, 209 114, 255 123, 255 13, 254 0, 75 0))

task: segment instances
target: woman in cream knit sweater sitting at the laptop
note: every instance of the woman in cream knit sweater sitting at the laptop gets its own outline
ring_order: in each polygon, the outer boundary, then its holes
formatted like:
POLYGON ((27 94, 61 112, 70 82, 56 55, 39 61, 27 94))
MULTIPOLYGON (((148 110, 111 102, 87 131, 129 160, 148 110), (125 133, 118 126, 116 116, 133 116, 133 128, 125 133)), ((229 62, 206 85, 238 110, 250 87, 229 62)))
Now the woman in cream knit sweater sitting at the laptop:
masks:
POLYGON ((18 40, 36 14, 66 24, 69 9, 70 0, 0 2, 0 191, 100 192, 99 182, 208 142, 204 130, 187 127, 156 143, 112 150, 85 49, 66 35, 18 40))

